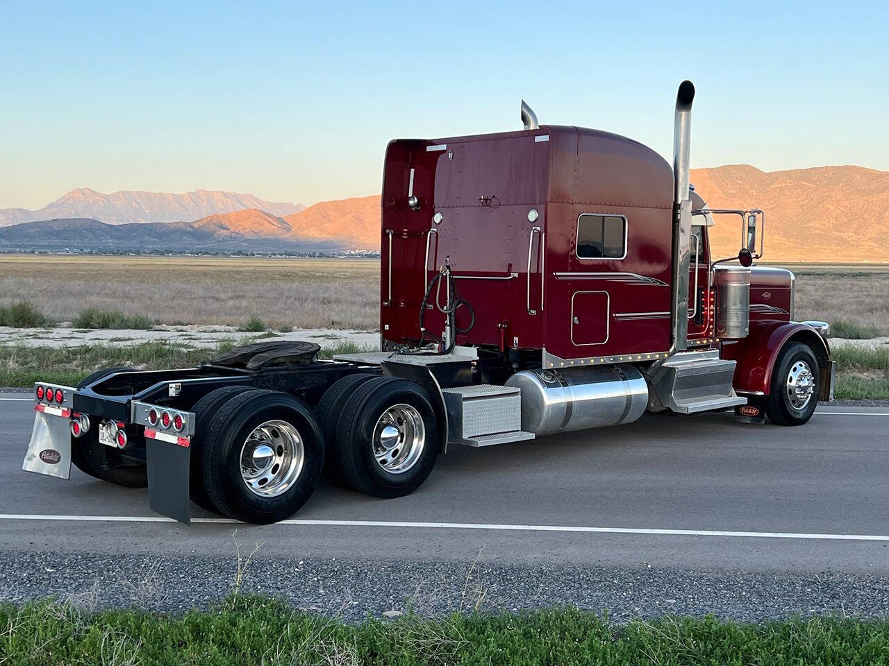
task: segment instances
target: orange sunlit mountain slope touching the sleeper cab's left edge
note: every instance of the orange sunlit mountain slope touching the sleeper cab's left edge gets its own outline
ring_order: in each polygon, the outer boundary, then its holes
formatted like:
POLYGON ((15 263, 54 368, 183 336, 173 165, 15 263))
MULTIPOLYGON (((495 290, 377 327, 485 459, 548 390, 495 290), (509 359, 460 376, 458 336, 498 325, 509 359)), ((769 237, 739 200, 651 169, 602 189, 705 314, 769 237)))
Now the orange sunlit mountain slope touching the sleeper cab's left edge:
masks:
POLYGON ((379 194, 316 203, 284 219, 300 238, 335 239, 358 250, 380 249, 379 194))

